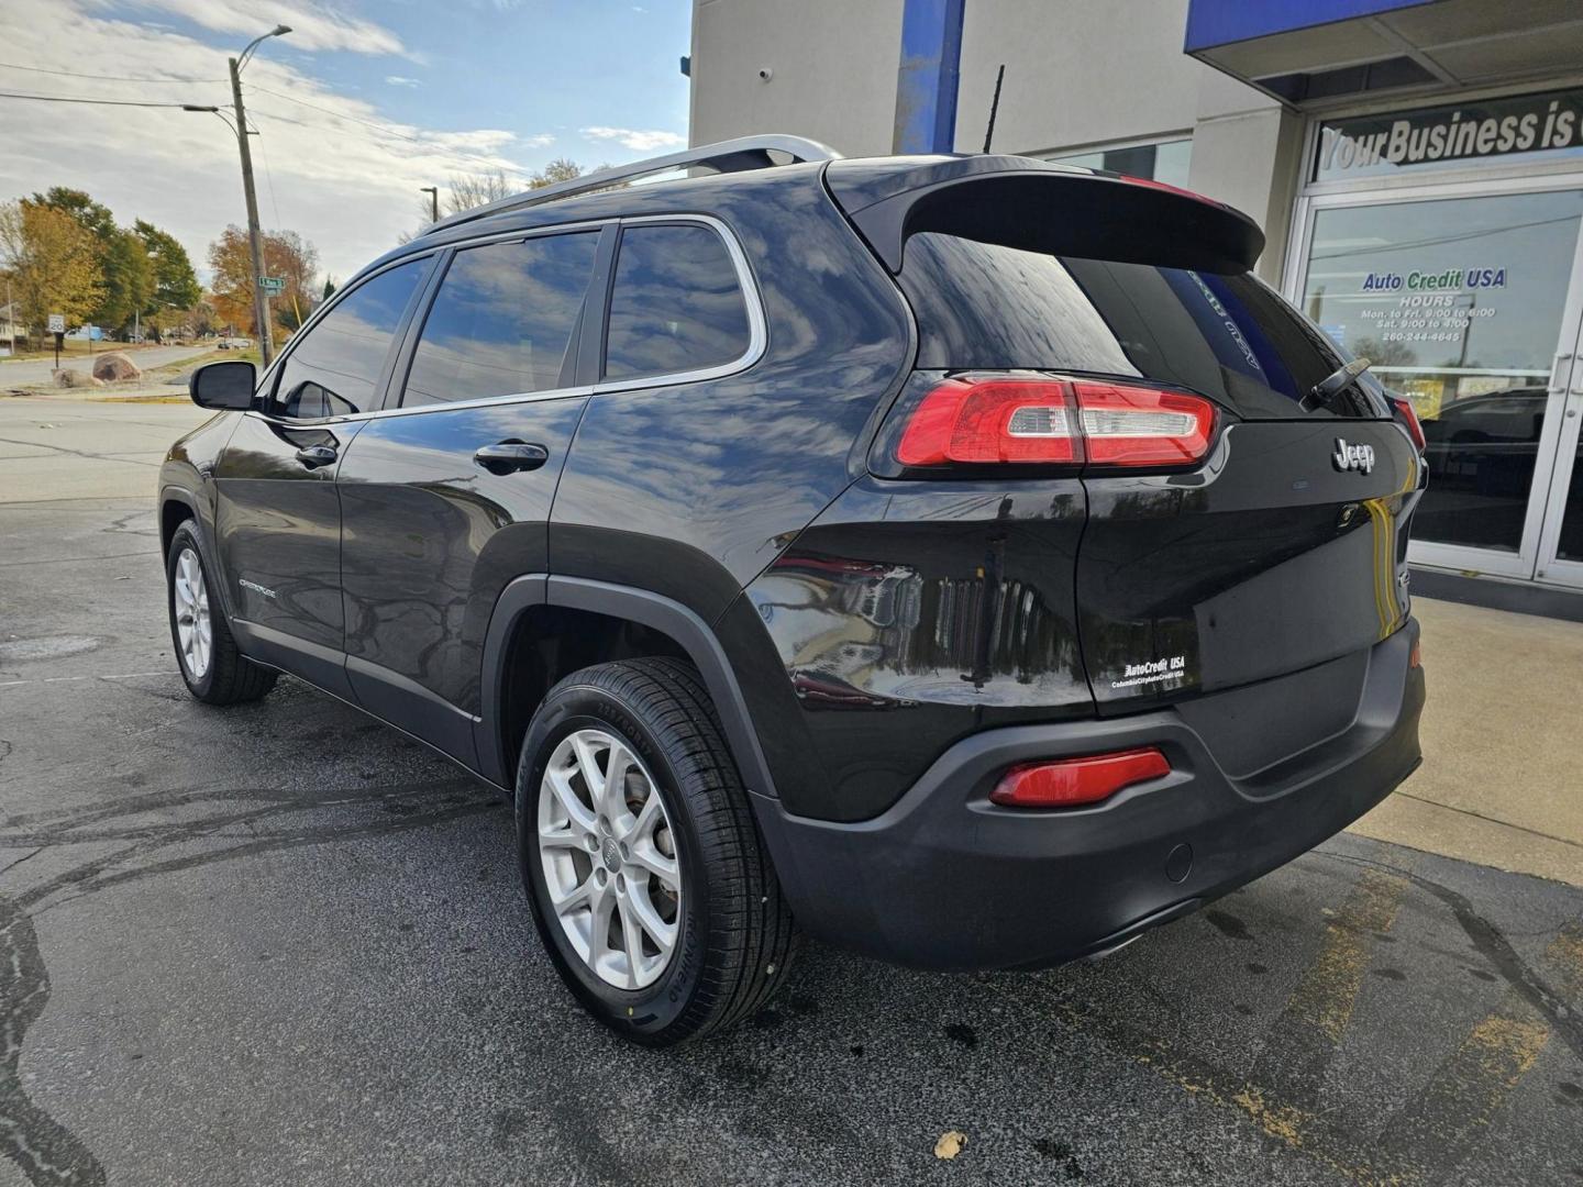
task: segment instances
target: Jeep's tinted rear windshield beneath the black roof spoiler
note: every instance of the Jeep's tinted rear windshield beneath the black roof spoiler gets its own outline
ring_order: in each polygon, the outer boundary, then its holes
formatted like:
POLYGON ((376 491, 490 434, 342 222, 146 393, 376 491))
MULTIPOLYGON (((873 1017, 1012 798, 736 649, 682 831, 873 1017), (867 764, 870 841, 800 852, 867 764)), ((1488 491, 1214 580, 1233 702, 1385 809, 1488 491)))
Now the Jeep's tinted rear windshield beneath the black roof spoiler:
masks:
POLYGON ((1130 375, 1192 388, 1247 419, 1379 415, 1361 393, 1315 411, 1298 405, 1350 355, 1247 272, 1078 260, 924 231, 907 241, 899 280, 924 369, 1130 375))

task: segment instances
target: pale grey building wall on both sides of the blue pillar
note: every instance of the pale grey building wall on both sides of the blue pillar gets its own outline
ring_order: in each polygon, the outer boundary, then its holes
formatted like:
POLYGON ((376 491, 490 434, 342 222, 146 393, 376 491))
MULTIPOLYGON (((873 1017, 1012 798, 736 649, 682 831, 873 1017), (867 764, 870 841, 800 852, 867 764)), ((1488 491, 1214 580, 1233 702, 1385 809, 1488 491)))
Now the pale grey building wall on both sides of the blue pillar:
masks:
MULTIPOLYGON (((902 0, 695 0, 693 144, 782 131, 891 150, 902 0), (760 76, 761 70, 769 78, 760 76)), ((967 0, 956 150, 1057 155, 1192 136, 1190 185, 1252 215, 1277 280, 1303 123, 1183 52, 1187 0, 967 0)))

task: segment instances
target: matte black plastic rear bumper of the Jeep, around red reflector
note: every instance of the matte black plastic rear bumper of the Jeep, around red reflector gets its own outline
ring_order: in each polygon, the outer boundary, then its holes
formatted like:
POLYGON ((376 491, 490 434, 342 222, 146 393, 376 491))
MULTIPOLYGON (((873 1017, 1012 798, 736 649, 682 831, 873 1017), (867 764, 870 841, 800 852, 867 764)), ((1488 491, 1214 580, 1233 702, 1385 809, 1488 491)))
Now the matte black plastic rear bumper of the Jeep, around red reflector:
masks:
POLYGON ((872 820, 793 817, 755 796, 758 821, 793 912, 822 939, 924 969, 1061 964, 1285 864, 1390 794, 1420 761, 1417 638, 1409 622, 1371 650, 1350 725, 1239 779, 1164 709, 974 734, 872 820), (988 799, 1013 763, 1133 745, 1160 747, 1171 774, 1091 809, 988 799))

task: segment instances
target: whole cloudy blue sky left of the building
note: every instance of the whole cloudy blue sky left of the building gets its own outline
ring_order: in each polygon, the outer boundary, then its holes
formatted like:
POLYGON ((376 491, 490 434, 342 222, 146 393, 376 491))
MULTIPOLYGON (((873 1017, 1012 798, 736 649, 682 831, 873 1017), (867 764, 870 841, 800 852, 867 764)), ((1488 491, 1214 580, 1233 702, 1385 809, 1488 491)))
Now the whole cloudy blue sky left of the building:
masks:
MULTIPOLYGON (((3 0, 0 92, 228 109, 226 57, 291 25, 242 73, 260 218, 345 280, 418 229, 419 187, 685 146, 690 21, 690 0, 3 0)), ((169 231, 199 279, 245 223, 217 116, 0 97, 0 203, 51 185, 169 231)))

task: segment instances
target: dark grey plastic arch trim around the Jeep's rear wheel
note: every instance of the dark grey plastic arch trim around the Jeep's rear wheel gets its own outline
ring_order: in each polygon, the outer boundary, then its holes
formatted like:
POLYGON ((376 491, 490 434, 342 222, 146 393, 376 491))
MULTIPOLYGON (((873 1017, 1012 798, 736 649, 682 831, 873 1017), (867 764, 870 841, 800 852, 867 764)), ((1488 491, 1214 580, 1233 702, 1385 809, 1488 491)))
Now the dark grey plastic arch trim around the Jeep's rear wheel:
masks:
POLYGON ((507 654, 518 622, 533 606, 584 609, 627 619, 670 636, 703 676, 716 712, 720 714, 725 742, 749 791, 774 798, 774 780, 758 744, 747 701, 742 698, 731 662, 709 624, 682 603, 646 589, 538 573, 511 581, 500 592, 489 617, 481 669, 481 714, 476 726, 480 774, 500 787, 511 787, 514 782, 514 772, 507 769, 505 739, 500 736, 507 654))

